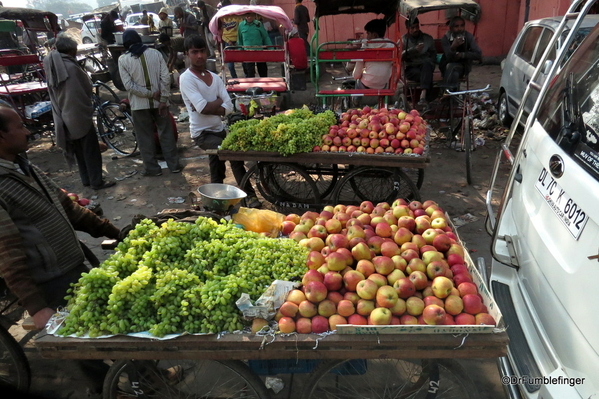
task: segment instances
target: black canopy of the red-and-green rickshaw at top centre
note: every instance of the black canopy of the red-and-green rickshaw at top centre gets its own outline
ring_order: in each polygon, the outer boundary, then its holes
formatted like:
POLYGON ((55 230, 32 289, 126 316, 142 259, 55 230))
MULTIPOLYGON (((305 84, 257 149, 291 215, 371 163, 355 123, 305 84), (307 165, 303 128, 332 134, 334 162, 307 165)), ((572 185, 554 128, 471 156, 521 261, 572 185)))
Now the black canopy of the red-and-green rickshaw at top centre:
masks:
POLYGON ((314 16, 338 14, 384 14, 387 25, 395 21, 398 0, 314 0, 314 16))

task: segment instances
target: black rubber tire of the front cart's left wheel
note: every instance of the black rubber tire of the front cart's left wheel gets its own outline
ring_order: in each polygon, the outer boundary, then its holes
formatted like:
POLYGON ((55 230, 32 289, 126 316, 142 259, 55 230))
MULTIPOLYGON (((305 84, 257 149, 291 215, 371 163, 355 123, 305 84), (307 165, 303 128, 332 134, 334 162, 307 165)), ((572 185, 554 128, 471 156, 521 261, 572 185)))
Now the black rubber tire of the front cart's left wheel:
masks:
MULTIPOLYGON (((118 399, 118 392, 114 389, 116 388, 115 384, 118 385, 119 376, 122 374, 123 369, 131 362, 131 360, 119 360, 110 366, 110 369, 104 378, 104 385, 102 387, 103 399, 118 399)), ((243 379, 247 383, 247 386, 255 392, 256 399, 270 399, 270 394, 262 380, 260 380, 260 378, 245 363, 237 360, 214 360, 213 362, 220 363, 222 366, 228 368, 243 379)))

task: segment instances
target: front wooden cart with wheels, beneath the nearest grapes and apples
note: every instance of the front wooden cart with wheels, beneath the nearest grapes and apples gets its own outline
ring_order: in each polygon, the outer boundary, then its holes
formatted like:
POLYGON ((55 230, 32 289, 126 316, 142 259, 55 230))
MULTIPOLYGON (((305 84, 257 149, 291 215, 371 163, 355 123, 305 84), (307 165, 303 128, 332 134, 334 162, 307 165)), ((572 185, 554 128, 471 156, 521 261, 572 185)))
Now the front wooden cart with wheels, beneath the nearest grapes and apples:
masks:
POLYGON ((293 397, 300 397, 301 389, 303 398, 366 397, 377 392, 377 397, 474 399, 480 397, 476 387, 449 359, 501 357, 507 344, 505 331, 326 337, 187 335, 170 340, 44 335, 36 340, 44 358, 115 360, 104 383, 104 398, 129 397, 125 393, 137 397, 269 398, 272 391, 258 374, 265 378, 264 374, 296 373, 299 379, 293 397), (283 369, 281 359, 287 360, 283 369), (373 385, 373 378, 382 385, 373 385), (206 388, 208 385, 211 388, 206 388), (460 396, 451 396, 456 393, 460 396))

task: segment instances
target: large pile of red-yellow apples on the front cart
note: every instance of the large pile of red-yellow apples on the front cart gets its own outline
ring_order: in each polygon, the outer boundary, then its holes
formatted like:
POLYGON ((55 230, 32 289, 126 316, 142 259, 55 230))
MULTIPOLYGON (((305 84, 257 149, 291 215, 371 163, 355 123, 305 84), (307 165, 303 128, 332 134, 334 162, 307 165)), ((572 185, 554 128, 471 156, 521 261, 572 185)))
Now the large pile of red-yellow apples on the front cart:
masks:
POLYGON ((287 215, 284 235, 310 249, 301 289, 276 319, 281 332, 339 324, 495 325, 434 201, 326 206, 287 215))

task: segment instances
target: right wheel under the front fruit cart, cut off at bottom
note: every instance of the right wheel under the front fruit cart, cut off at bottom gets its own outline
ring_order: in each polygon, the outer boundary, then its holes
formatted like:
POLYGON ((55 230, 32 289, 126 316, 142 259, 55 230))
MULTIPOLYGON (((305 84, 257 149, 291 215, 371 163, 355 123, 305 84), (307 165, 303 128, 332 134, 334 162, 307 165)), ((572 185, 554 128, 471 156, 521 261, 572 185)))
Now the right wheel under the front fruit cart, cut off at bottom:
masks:
POLYGON ((411 359, 323 362, 312 372, 302 395, 302 399, 372 397, 475 399, 480 395, 457 362, 411 359))

